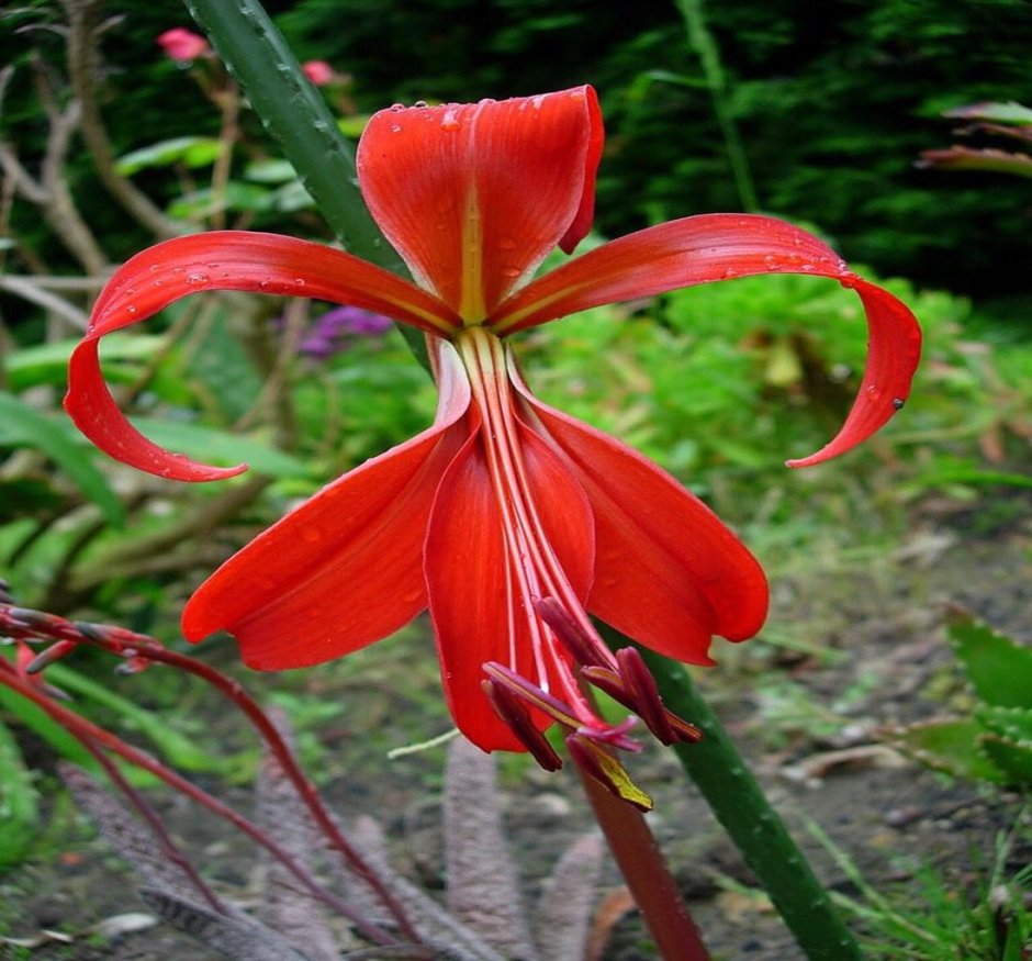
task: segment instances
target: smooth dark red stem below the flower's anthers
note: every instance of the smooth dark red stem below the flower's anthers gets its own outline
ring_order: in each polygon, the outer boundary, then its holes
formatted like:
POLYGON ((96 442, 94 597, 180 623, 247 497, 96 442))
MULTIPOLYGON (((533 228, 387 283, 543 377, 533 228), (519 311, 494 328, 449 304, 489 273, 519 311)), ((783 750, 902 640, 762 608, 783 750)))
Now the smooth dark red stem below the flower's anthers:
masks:
POLYGON ((644 815, 577 766, 584 793, 646 927, 665 961, 710 961, 644 815))

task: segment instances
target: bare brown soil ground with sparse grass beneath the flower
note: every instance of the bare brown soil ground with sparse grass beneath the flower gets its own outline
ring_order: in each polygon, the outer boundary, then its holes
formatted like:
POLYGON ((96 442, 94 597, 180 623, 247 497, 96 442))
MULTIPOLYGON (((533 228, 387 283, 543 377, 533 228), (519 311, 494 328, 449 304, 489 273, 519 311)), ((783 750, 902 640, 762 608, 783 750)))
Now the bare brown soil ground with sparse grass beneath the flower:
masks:
MULTIPOLYGON (((803 625, 797 638, 803 647, 837 656, 807 653, 793 649, 800 645, 782 641, 754 642, 718 653, 730 667, 704 679, 770 797, 832 890, 856 894, 814 840, 809 820, 883 893, 907 884, 915 859, 936 865, 961 892, 977 879, 979 864, 991 863, 997 834, 1014 827, 1019 798, 915 767, 880 746, 877 730, 963 708, 963 685, 943 641, 946 604, 964 605, 998 629, 1032 642, 1028 517, 988 538, 971 536, 956 522, 936 524, 911 535, 893 557, 863 569, 854 565, 810 572, 805 580, 775 581, 772 623, 803 625), (848 752, 830 753, 843 750, 848 752)), ((388 711, 374 723, 389 727, 390 717, 388 711)), ((316 734, 324 747, 332 747, 339 731, 316 734)), ((325 789, 330 805, 345 815, 377 814, 397 865, 430 890, 442 883, 439 763, 439 752, 389 762, 377 746, 352 757, 347 776, 330 775, 325 789)), ((685 787, 673 759, 660 751, 647 753, 635 773, 655 797, 653 830, 677 865, 714 958, 801 958, 762 896, 730 890, 728 879, 747 887, 753 882, 706 805, 685 787)), ((502 783, 511 840, 534 895, 556 852, 588 827, 585 805, 567 772, 503 769, 502 783)), ((243 789, 233 790, 248 803, 243 789)), ((220 890, 246 901, 254 881, 247 846, 228 829, 190 813, 178 798, 166 798, 162 809, 220 890)), ((65 823, 70 836, 54 846, 59 853, 0 876, 0 934, 72 931, 111 915, 146 910, 131 873, 110 849, 92 839, 85 824, 67 817, 65 823)), ((1028 863, 1029 838, 1025 824, 1023 842, 1019 839, 1011 854, 1012 869, 1028 863)), ((606 882, 616 884, 615 873, 606 882)), ((32 951, 0 946, 0 958, 4 950, 12 959, 38 961, 217 957, 168 927, 32 951)), ((617 926, 605 957, 654 957, 632 915, 617 926)))

